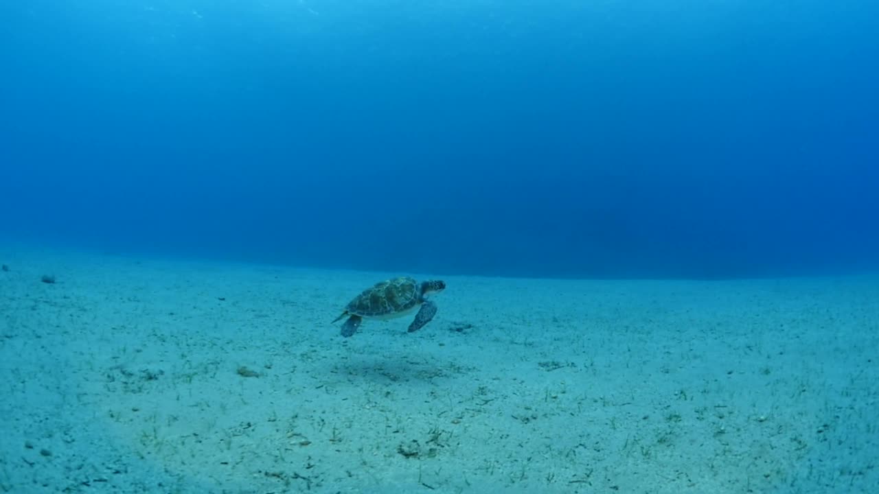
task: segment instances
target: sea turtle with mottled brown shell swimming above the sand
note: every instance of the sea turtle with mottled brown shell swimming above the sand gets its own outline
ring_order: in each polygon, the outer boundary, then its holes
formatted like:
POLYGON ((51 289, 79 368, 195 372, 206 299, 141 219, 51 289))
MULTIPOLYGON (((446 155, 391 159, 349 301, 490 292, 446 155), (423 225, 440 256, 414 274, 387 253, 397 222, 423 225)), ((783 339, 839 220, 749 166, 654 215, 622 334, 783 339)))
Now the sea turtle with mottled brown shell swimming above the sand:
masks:
POLYGON ((415 319, 409 325, 409 332, 418 331, 426 323, 430 323, 433 315, 437 313, 436 304, 427 300, 425 295, 441 292, 444 289, 446 289, 446 282, 440 280, 419 283, 408 276, 401 276, 392 280, 380 281, 363 290, 352 301, 348 302, 345 311, 333 323, 349 316, 348 320, 342 324, 342 336, 347 338, 357 331, 364 317, 392 319, 410 314, 418 306, 421 306, 415 319))

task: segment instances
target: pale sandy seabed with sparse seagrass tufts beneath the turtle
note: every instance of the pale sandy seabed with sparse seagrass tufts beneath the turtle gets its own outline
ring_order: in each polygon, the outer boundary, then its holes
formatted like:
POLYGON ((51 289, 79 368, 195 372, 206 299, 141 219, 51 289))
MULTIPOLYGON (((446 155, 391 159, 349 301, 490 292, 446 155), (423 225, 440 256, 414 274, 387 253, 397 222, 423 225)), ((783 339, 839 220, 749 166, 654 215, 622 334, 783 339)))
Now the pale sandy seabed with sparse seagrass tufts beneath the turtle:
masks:
POLYGON ((0 492, 879 491, 879 278, 443 277, 345 339, 391 273, 0 263, 0 492))

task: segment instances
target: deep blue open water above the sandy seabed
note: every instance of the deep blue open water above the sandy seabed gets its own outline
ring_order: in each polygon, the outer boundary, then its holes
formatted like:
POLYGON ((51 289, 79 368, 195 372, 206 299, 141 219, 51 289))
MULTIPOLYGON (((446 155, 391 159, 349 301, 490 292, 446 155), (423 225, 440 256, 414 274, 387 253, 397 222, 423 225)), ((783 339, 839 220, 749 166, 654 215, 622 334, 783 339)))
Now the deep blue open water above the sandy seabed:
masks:
POLYGON ((879 4, 0 5, 2 236, 588 277, 879 265, 879 4))

